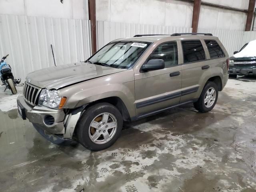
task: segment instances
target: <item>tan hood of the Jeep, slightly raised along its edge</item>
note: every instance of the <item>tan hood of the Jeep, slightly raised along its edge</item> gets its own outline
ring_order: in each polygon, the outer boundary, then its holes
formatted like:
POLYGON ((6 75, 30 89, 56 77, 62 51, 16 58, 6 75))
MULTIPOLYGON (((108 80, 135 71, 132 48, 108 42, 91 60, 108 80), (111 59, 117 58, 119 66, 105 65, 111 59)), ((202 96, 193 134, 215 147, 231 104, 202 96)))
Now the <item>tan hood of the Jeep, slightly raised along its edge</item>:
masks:
POLYGON ((85 62, 60 65, 34 71, 26 77, 26 82, 40 88, 60 89, 70 84, 117 73, 126 69, 111 68, 85 62))

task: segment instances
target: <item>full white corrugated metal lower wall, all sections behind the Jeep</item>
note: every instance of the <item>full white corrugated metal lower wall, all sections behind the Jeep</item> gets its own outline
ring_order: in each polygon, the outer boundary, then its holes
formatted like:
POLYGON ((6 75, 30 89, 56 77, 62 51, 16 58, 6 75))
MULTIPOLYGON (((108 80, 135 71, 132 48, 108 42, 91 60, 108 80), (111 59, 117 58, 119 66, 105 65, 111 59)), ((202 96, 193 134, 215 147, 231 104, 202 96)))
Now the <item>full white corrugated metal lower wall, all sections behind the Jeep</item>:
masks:
MULTIPOLYGON (((191 32, 192 28, 128 24, 97 21, 97 46, 135 34, 172 34, 191 32)), ((198 29, 218 36, 228 54, 251 40, 256 32, 198 29)), ((54 66, 52 44, 57 65, 86 60, 91 55, 90 21, 28 17, 0 14, 0 56, 10 54, 6 62, 15 77, 25 80, 29 72, 54 66)))

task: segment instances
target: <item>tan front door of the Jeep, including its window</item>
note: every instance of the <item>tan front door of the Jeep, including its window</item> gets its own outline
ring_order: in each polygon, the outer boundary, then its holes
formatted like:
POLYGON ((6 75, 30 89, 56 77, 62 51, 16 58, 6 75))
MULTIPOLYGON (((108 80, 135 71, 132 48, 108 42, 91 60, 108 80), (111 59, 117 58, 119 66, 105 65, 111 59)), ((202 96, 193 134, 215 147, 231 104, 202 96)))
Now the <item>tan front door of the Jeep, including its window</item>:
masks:
POLYGON ((182 66, 178 65, 177 42, 160 44, 149 56, 148 60, 150 59, 163 59, 165 68, 140 72, 136 75, 135 106, 137 115, 180 102, 182 66))

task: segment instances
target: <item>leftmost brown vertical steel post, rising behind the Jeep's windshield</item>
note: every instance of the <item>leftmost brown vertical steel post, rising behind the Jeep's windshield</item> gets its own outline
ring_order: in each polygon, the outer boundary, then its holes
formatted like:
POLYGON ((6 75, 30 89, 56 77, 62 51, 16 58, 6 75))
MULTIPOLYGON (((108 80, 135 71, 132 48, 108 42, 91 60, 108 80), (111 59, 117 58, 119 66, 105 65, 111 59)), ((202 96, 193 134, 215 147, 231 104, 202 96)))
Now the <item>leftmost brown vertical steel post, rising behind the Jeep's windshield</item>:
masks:
POLYGON ((88 0, 88 11, 89 11, 89 20, 91 23, 92 54, 94 54, 97 51, 95 0, 88 0))

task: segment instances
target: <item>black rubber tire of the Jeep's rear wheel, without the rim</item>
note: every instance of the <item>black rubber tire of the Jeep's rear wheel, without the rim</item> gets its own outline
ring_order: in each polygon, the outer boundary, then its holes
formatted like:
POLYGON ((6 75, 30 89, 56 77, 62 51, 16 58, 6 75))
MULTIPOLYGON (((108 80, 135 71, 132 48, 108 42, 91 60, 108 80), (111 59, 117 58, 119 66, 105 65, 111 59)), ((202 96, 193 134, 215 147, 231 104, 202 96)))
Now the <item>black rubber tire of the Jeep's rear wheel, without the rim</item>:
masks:
POLYGON ((204 89, 202 90, 202 93, 201 93, 200 98, 198 99, 198 101, 194 102, 194 107, 199 112, 202 112, 202 113, 209 112, 210 110, 212 110, 214 108, 217 100, 218 100, 218 86, 214 82, 208 81, 208 82, 206 82, 206 84, 204 86, 204 89), (205 98, 206 92, 208 91, 209 88, 214 88, 215 89, 215 91, 216 91, 216 98, 215 98, 215 101, 214 101, 213 105, 208 108, 204 104, 204 98, 205 98))

